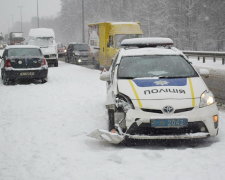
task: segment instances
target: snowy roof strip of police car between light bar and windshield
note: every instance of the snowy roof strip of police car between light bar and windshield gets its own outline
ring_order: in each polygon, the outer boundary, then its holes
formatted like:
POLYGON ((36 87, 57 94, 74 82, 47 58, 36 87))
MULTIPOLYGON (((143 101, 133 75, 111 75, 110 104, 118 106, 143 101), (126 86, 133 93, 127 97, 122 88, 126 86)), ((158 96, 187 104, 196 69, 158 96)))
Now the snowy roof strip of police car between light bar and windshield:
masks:
POLYGON ((164 47, 157 48, 136 48, 136 49, 122 49, 121 56, 144 56, 144 55, 181 55, 179 50, 168 49, 164 47))

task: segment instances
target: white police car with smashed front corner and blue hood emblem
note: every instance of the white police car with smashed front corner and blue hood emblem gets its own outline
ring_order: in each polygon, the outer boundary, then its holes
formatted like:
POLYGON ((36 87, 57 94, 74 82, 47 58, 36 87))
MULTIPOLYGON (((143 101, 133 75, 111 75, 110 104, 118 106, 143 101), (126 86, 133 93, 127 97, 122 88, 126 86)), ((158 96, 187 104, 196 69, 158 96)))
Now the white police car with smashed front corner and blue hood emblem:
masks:
MULTIPOLYGON (((131 139, 193 139, 218 134, 218 109, 206 84, 168 38, 136 38, 123 49, 107 81, 109 131, 90 136, 111 143, 131 139), (111 133, 116 129, 117 133, 111 133)), ((200 70, 208 76, 208 72, 200 70)))

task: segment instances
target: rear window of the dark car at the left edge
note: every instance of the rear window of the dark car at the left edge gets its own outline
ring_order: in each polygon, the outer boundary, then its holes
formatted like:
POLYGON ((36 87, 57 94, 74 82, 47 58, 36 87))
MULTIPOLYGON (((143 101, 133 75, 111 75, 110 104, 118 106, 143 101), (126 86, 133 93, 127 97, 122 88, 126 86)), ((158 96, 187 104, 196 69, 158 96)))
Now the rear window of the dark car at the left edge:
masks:
POLYGON ((37 48, 15 48, 8 50, 8 56, 41 56, 41 51, 37 48))

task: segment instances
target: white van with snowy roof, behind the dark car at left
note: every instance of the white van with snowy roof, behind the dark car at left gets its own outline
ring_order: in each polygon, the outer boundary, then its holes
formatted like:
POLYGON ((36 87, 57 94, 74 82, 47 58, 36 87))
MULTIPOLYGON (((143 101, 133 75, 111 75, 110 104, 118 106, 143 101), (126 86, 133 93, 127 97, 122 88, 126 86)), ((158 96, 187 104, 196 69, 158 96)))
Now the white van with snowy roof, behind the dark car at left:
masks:
POLYGON ((58 67, 57 44, 55 42, 55 33, 53 29, 30 29, 28 44, 39 46, 48 64, 58 67))

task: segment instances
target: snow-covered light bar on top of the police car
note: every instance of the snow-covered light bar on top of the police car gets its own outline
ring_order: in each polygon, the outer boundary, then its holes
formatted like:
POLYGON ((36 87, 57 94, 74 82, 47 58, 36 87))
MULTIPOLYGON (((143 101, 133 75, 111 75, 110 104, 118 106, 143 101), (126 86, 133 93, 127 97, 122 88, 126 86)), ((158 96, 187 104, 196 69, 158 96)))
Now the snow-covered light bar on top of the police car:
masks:
POLYGON ((173 40, 170 38, 133 38, 125 39, 121 42, 121 46, 125 47, 157 47, 173 45, 173 40))

